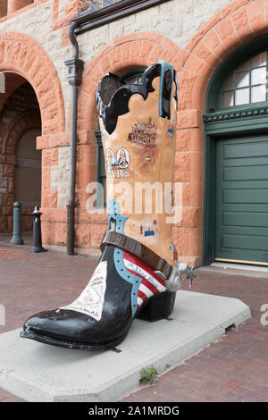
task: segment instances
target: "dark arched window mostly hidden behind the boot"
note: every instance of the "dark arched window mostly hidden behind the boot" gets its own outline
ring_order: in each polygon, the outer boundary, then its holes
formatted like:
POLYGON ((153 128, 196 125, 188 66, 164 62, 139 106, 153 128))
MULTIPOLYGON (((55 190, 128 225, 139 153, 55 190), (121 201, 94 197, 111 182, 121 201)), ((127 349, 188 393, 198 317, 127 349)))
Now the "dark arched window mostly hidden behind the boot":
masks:
MULTIPOLYGON (((121 80, 127 83, 139 83, 142 77, 144 68, 135 69, 128 71, 127 73, 121 76, 121 80)), ((96 136, 96 181, 102 185, 102 190, 96 191, 96 206, 105 207, 106 206, 106 174, 105 174, 105 153, 102 145, 101 134, 99 130, 99 125, 97 123, 97 130, 95 131, 96 136), (104 196, 104 197, 103 197, 104 196)))

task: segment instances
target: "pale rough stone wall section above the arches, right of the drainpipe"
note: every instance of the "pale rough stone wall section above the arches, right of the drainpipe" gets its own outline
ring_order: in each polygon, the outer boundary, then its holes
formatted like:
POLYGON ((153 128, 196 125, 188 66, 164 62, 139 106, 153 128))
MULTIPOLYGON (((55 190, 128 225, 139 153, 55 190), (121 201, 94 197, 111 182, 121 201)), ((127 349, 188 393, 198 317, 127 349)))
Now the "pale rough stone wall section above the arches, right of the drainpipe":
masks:
POLYGON ((163 35, 183 49, 205 21, 231 2, 232 0, 172 0, 156 5, 93 29, 90 35, 88 32, 81 34, 80 56, 87 65, 114 39, 145 31, 163 35))

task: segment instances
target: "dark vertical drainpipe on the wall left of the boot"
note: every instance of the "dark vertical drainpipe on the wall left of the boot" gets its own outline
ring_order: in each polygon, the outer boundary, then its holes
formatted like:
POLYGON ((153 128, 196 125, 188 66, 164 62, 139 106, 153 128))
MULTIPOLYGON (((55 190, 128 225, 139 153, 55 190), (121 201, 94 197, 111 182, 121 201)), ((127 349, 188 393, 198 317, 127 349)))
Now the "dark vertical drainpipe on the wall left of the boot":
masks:
POLYGON ((76 146, 77 146, 77 104, 78 88, 82 81, 84 62, 79 58, 79 45, 74 30, 79 26, 78 21, 71 21, 69 38, 71 40, 73 57, 65 61, 68 67, 67 80, 71 84, 71 168, 70 195, 67 204, 67 254, 74 255, 74 217, 75 217, 75 181, 76 181, 76 146))

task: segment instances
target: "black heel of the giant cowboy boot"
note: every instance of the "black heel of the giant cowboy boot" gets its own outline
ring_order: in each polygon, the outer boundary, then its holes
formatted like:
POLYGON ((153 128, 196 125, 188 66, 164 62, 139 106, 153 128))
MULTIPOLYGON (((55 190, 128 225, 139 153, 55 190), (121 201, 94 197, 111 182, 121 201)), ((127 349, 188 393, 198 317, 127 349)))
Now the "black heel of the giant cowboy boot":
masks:
POLYGON ((176 293, 164 291, 148 300, 138 312, 137 318, 145 321, 158 321, 172 314, 176 293))

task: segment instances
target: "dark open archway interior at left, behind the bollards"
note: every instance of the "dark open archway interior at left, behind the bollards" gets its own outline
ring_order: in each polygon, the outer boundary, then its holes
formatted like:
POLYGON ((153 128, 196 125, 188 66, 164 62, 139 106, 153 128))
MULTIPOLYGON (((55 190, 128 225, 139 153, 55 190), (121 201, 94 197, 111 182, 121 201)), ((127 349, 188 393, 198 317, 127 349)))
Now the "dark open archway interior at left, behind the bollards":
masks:
POLYGON ((33 206, 40 206, 41 135, 38 98, 21 75, 6 72, 5 93, 1 96, 0 145, 3 171, 0 172, 1 232, 13 229, 13 202, 21 202, 21 228, 30 231, 33 206))

